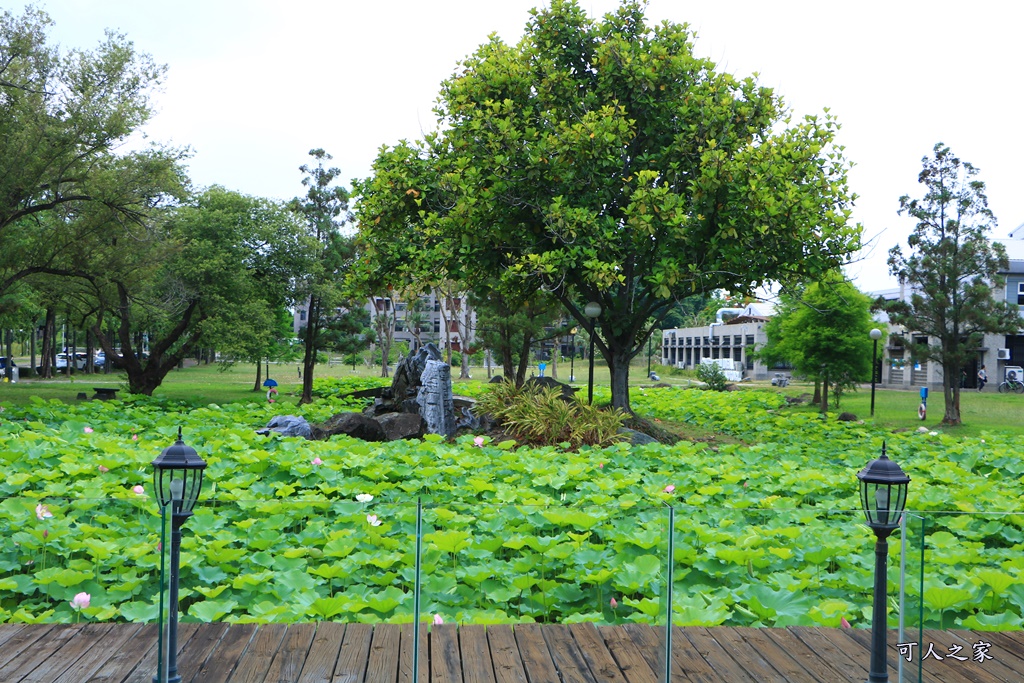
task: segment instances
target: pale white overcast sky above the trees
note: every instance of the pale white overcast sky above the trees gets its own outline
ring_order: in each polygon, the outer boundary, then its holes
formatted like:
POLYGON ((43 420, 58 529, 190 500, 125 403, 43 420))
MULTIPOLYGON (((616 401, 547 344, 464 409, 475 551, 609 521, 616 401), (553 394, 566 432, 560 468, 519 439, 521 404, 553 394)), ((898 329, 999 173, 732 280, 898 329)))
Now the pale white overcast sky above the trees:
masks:
MULTIPOLYGON (((188 145, 197 185, 300 195, 313 147, 342 177, 376 151, 434 125, 441 80, 497 32, 518 40, 542 0, 41 0, 52 38, 93 47, 104 28, 170 68, 151 138, 188 145)), ((582 0, 592 15, 617 5, 582 0)), ((15 11, 18 11, 15 9, 15 11)), ((1024 222, 1024 5, 982 0, 717 2, 650 0, 648 16, 688 23, 697 53, 757 72, 794 113, 828 108, 856 166, 855 220, 873 247, 848 268, 861 290, 893 285, 887 252, 912 223, 921 159, 937 141, 981 171, 1002 238, 1024 222)), ((347 183, 346 183, 347 184, 347 183)))

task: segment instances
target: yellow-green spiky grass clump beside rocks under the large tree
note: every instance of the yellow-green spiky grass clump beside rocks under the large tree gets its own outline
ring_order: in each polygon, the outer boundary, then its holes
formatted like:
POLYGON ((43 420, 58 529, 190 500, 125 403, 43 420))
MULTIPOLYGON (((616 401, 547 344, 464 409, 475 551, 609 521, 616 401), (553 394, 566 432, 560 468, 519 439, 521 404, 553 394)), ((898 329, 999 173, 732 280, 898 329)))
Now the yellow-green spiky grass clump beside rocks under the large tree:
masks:
POLYGON ((529 444, 568 443, 603 446, 625 438, 620 433, 626 414, 601 410, 557 389, 516 387, 502 382, 477 399, 477 411, 490 415, 518 441, 529 444))

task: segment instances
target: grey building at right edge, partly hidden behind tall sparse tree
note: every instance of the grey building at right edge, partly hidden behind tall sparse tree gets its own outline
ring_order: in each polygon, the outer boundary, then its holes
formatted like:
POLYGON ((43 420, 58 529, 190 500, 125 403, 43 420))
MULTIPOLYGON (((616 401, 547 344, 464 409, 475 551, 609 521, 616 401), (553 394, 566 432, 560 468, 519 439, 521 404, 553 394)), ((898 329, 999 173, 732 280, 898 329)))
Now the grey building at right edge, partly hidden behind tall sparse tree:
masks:
MULTIPOLYGON (((981 345, 975 349, 976 355, 962 371, 962 382, 967 388, 977 387, 978 369, 982 365, 985 366, 992 387, 1004 380, 1007 368, 1024 367, 1024 225, 1013 230, 1009 239, 995 242, 1006 247, 1007 255, 1010 257, 1010 267, 999 273, 1006 279, 1006 286, 995 294, 1019 307, 1021 325, 1011 334, 984 336, 981 345)), ((898 300, 905 299, 909 295, 907 288, 901 286, 898 289, 877 292, 873 296, 898 300)), ((935 361, 914 358, 910 353, 910 344, 928 341, 927 336, 920 335, 913 330, 889 324, 888 342, 882 361, 882 384, 905 388, 941 387, 942 367, 935 361)), ((936 340, 931 342, 937 343, 936 340)))

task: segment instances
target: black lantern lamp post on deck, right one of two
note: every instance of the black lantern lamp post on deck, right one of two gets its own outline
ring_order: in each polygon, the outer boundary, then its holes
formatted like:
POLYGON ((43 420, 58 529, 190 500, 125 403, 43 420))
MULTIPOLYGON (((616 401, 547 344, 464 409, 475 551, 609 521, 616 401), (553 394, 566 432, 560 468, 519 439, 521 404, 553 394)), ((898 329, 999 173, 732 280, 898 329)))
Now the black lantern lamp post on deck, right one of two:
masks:
POLYGON ((860 505, 867 518, 867 525, 874 531, 874 602, 871 612, 871 667, 867 683, 885 683, 889 680, 886 672, 886 589, 888 586, 887 561, 889 544, 886 539, 899 526, 903 508, 906 507, 906 487, 910 481, 900 466, 886 456, 886 444, 882 444, 882 457, 867 463, 857 472, 860 479, 860 505))

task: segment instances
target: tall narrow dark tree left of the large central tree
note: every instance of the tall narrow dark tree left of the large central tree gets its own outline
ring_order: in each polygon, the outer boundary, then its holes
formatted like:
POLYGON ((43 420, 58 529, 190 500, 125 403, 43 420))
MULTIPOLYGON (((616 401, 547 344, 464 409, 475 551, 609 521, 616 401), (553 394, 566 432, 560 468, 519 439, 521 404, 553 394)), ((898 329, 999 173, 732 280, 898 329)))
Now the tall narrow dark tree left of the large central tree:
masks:
POLYGON ((299 168, 305 173, 302 184, 306 187, 306 194, 292 203, 294 210, 304 219, 307 234, 313 245, 306 273, 298 281, 296 291, 296 300, 306 303, 300 403, 308 403, 313 399, 316 351, 324 345, 321 335, 327 327, 327 321, 344 302, 345 295, 341 285, 354 255, 352 241, 339 232, 348 220, 348 190, 333 184, 341 175, 341 170, 325 168, 324 164, 333 157, 324 150, 310 150, 309 156, 315 163, 304 164, 299 168))

